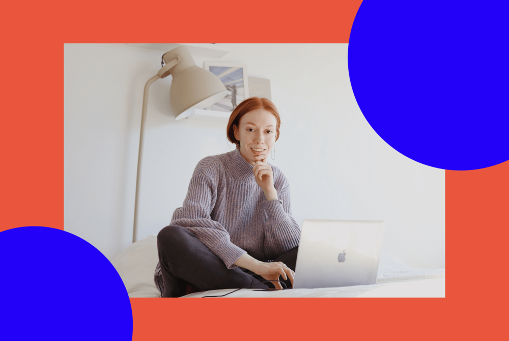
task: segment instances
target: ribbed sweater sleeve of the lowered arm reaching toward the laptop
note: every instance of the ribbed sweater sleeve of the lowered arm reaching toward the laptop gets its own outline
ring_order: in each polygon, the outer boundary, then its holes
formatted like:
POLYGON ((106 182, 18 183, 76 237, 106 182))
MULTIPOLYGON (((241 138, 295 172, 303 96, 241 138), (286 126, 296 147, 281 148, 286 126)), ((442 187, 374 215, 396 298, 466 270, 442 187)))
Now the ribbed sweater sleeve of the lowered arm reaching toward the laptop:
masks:
POLYGON ((210 213, 216 196, 216 185, 210 176, 204 172, 195 172, 183 206, 173 214, 172 224, 191 231, 228 269, 234 269, 237 266, 233 263, 247 252, 230 241, 230 235, 224 226, 211 219, 210 213))

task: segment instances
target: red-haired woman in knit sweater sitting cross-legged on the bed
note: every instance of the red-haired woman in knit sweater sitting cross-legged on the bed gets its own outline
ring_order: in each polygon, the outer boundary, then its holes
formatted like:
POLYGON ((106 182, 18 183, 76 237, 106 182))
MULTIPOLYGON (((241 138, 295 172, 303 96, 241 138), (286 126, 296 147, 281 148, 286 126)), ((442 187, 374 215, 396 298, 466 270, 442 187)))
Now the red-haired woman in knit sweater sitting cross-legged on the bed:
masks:
POLYGON ((154 280, 162 297, 282 289, 279 276, 293 286, 300 228, 288 180, 267 163, 279 125, 266 98, 248 98, 232 112, 227 136, 237 149, 198 162, 183 206, 157 236, 154 280))

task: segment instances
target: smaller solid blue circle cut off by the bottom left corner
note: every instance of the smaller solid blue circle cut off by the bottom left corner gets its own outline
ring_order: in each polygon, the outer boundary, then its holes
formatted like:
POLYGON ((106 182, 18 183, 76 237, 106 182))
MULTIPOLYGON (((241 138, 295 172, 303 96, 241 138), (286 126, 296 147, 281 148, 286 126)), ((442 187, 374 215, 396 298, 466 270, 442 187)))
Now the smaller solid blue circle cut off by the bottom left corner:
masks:
POLYGON ((4 340, 131 340, 132 311, 117 270, 65 231, 0 233, 4 340))

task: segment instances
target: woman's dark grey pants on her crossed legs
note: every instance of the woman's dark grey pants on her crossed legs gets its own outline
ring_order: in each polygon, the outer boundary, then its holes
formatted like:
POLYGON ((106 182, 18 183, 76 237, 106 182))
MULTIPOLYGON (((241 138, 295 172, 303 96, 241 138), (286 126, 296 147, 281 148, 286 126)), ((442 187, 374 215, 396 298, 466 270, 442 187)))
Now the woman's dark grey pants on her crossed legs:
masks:
MULTIPOLYGON (((168 225, 157 235, 160 271, 156 269, 154 280, 162 297, 181 297, 186 293, 187 283, 200 291, 216 289, 267 289, 272 282, 247 269, 227 269, 196 236, 179 225, 168 225)), ((281 255, 274 262, 283 262, 295 271, 298 246, 281 255)), ((290 278, 284 280, 291 287, 290 278)), ((285 287, 285 286, 283 286, 285 287)))

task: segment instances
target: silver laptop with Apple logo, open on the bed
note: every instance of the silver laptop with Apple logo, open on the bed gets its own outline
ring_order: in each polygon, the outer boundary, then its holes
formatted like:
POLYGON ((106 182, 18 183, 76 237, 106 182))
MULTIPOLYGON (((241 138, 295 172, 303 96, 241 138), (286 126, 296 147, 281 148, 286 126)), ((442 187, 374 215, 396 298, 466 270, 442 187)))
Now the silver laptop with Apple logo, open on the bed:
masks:
POLYGON ((384 230, 384 221, 304 220, 293 288, 375 284, 384 230))

